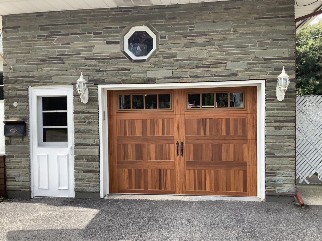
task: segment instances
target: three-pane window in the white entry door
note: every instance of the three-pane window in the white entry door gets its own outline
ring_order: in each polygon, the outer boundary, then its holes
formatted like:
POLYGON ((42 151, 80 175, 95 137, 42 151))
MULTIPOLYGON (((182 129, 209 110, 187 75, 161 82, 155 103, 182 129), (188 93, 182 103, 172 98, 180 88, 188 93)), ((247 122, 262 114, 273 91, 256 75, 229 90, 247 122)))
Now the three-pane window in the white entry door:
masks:
POLYGON ((67 96, 38 96, 38 146, 67 147, 67 96))

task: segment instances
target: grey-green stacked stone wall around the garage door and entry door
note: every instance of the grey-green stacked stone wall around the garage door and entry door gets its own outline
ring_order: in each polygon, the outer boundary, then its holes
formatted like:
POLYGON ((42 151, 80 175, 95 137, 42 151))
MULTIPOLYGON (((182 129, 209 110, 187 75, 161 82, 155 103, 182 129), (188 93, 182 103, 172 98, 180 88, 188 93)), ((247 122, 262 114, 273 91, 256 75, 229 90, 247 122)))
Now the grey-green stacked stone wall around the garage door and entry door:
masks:
MULTIPOLYGON (((24 120, 29 129, 29 86, 74 86, 76 194, 100 190, 98 84, 266 79, 266 193, 294 195, 293 0, 30 13, 4 16, 3 26, 5 58, 14 67, 5 73, 5 119, 24 120), (120 34, 146 22, 159 33, 159 50, 148 62, 132 63, 120 51, 120 34), (291 83, 279 102, 282 66, 291 83), (75 89, 81 70, 87 104, 75 89)), ((30 195, 29 141, 29 134, 6 139, 9 196, 30 195)))

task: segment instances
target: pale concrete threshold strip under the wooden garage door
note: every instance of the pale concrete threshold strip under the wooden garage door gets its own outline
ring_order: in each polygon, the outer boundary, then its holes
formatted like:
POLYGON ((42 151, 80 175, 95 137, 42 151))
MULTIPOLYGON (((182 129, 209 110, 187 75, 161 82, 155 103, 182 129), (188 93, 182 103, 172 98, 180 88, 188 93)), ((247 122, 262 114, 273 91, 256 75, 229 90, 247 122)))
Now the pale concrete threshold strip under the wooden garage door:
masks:
POLYGON ((166 194, 109 194, 104 199, 140 199, 157 201, 256 201, 259 197, 206 196, 206 195, 166 195, 166 194))

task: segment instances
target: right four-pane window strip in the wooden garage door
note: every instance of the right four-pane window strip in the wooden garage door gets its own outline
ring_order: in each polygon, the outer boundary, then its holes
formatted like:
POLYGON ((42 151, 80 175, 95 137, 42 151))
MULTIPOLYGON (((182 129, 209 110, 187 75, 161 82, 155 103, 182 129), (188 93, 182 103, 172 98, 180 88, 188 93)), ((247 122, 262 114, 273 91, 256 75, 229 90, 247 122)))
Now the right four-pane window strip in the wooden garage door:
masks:
POLYGON ((188 110, 236 109, 244 108, 244 91, 187 93, 188 110))

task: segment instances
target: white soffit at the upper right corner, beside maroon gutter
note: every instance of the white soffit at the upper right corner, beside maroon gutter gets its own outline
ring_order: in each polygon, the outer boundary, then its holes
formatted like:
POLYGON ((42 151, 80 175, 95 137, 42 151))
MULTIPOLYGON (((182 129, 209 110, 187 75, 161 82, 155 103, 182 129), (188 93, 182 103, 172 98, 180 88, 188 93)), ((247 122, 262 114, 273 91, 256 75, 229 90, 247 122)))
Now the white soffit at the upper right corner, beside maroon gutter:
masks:
MULTIPOLYGON (((314 12, 322 9, 322 0, 318 0, 318 1, 296 0, 296 3, 295 3, 295 18, 299 18, 299 17, 305 16, 310 13, 314 13, 314 12)), ((298 32, 301 29, 303 29, 306 25, 308 25, 310 22, 312 22, 315 18, 316 18, 316 16, 306 19, 304 21, 297 22, 296 23, 296 31, 298 32)))

